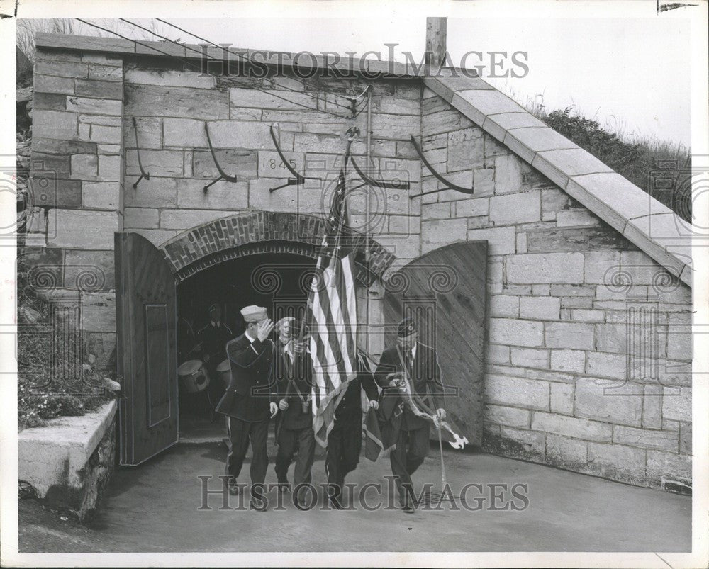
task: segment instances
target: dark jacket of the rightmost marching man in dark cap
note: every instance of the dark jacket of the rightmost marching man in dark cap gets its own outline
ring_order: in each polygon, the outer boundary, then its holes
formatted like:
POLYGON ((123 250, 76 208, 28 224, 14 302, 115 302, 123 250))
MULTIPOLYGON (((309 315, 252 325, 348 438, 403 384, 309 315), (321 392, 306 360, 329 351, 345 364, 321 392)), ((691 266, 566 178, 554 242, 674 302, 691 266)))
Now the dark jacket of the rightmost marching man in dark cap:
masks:
MULTIPOLYGON (((402 350, 401 353, 408 365, 408 378, 413 384, 413 393, 420 395, 433 410, 443 407, 443 385, 435 349, 418 342, 413 361, 411 350, 402 350)), ((385 421, 390 421, 393 416, 401 412, 401 405, 399 405, 402 400, 401 393, 395 388, 390 388, 389 380, 386 378, 387 374, 396 372, 403 372, 403 366, 398 347, 395 346, 384 350, 374 373, 376 383, 382 388, 379 409, 385 421)), ((426 419, 414 415, 406 405, 403 407, 403 416, 408 430, 428 427, 429 423, 426 419)))

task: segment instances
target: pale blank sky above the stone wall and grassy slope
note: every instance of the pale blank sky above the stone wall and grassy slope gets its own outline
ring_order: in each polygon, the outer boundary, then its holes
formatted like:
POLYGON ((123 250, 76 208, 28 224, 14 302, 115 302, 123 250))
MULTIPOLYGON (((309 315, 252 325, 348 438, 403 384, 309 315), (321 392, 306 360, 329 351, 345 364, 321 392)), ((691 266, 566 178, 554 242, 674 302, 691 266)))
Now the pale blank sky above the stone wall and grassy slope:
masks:
MULTIPOLYGON (((401 4, 401 6, 404 6, 401 4)), ((147 18, 129 18, 149 26, 147 18)), ((164 19, 215 43, 234 47, 363 54, 389 59, 412 53, 419 62, 425 49, 425 16, 394 9, 389 16, 354 18, 171 18, 164 19)), ((156 23, 169 38, 199 40, 156 23)), ((133 28, 124 26, 130 35, 133 28)), ((608 17, 457 18, 447 22, 447 48, 455 64, 465 52, 525 52, 525 77, 491 84, 520 103, 530 99, 547 111, 573 106, 612 130, 642 138, 691 143, 691 52, 688 18, 608 17)), ((484 55, 489 63, 489 56, 484 55)), ((499 56, 498 56, 499 57, 499 56)), ((470 56, 469 66, 476 64, 470 56)), ((510 64, 508 63, 508 66, 510 64)), ((510 68, 510 67, 506 67, 510 68)), ((520 70, 520 67, 516 67, 520 70)))

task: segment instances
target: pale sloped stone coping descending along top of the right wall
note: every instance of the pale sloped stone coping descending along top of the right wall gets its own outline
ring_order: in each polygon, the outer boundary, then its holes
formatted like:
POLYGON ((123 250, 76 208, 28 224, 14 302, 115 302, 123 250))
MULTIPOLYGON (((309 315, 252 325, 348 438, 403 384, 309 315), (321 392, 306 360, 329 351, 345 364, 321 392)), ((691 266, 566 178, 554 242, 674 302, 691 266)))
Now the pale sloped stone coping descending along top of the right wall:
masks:
POLYGON ((424 84, 692 286, 693 227, 641 188, 548 127, 482 79, 424 84))

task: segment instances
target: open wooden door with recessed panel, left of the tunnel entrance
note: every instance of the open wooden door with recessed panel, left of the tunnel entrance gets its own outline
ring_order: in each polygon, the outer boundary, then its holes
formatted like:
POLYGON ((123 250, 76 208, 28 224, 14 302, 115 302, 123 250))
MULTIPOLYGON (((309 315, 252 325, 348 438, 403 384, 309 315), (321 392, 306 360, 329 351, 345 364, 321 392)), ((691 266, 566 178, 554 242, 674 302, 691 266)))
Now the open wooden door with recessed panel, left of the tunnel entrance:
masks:
POLYGON ((136 466, 177 442, 175 280, 145 237, 115 235, 120 456, 136 466))

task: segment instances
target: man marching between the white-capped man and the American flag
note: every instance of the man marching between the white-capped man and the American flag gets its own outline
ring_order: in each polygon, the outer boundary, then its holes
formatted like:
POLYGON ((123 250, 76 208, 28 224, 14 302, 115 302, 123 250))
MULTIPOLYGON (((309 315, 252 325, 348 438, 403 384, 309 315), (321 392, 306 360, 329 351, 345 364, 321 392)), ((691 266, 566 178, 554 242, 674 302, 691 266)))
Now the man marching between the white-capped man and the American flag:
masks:
MULTIPOLYGON (((311 482, 311 468, 315 459, 311 403, 313 363, 307 348, 310 338, 307 329, 303 328, 303 323, 293 320, 284 325, 283 336, 286 342, 279 354, 280 362, 277 365, 279 397, 282 397, 278 404, 281 410, 281 424, 278 432, 276 475, 281 491, 289 488, 288 468, 294 455, 295 488, 300 484, 311 482), (302 337, 301 329, 304 332, 302 337)), ((294 502, 297 503, 298 499, 298 495, 294 495, 294 502)))

